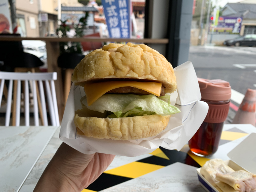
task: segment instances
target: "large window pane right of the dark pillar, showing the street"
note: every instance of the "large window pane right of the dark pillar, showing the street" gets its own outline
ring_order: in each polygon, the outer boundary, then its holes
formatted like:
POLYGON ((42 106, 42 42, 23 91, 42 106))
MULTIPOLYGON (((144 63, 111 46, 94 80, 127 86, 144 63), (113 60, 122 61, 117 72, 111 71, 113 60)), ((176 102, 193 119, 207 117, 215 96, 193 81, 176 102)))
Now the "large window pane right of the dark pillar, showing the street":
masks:
POLYGON ((194 0, 194 5, 189 60, 198 78, 230 83, 227 121, 232 122, 247 89, 256 89, 256 41, 251 39, 256 35, 256 1, 194 0))

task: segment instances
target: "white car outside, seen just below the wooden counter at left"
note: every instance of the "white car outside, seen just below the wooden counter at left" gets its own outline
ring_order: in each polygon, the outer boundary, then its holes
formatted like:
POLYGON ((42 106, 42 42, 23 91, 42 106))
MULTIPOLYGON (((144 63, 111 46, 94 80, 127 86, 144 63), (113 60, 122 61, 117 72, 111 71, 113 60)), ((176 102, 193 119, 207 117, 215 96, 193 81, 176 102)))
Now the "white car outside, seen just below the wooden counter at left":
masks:
POLYGON ((46 43, 40 40, 23 40, 23 51, 37 56, 41 61, 47 58, 46 43))

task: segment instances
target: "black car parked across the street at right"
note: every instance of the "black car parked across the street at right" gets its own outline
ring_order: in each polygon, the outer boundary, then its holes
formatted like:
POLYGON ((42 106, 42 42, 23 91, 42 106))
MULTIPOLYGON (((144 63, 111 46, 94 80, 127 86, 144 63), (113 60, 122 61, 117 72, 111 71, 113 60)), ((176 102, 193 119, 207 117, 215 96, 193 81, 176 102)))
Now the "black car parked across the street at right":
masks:
POLYGON ((227 46, 256 46, 256 34, 248 34, 223 42, 227 46))

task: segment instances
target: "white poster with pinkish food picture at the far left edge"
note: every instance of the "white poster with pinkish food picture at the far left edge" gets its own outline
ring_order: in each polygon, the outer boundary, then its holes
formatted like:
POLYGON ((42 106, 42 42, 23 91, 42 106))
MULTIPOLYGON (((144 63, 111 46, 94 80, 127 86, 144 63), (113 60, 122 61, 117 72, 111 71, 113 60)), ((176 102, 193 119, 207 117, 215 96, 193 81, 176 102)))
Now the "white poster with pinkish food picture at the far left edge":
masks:
POLYGON ((0 33, 13 33, 8 0, 0 1, 0 33))

